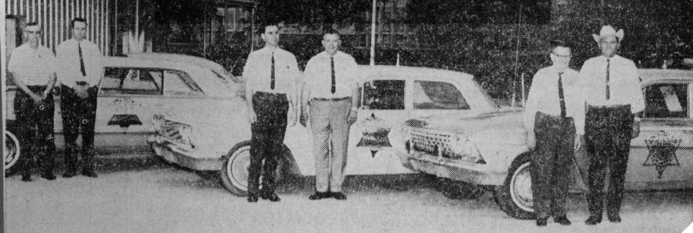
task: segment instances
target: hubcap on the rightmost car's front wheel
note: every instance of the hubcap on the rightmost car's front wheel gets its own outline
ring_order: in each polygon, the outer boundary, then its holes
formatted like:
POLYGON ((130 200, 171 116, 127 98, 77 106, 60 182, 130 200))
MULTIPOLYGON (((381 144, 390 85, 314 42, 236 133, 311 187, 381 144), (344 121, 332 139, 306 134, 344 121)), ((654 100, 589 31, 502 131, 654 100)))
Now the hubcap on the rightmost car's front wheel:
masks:
POLYGON ((529 162, 520 165, 513 174, 510 183, 510 196, 513 202, 527 212, 534 212, 532 198, 532 175, 529 170, 529 162))

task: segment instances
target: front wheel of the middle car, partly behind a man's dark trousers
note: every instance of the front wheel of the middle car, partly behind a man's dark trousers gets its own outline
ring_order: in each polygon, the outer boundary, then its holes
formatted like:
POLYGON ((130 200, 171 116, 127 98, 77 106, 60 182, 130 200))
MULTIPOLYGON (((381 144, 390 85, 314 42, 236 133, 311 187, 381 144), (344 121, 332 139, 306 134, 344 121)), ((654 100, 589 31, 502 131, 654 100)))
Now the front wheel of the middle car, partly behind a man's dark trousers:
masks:
MULTIPOLYGON (((275 182, 283 179, 286 156, 290 155, 289 149, 283 145, 285 154, 277 158, 277 175, 275 182)), ((229 154, 224 157, 224 164, 219 172, 221 183, 225 189, 236 196, 247 196, 248 192, 248 167, 250 166, 250 141, 240 142, 229 154)), ((260 178, 262 180, 262 177, 260 178)), ((262 184, 261 184, 262 187, 262 184)))

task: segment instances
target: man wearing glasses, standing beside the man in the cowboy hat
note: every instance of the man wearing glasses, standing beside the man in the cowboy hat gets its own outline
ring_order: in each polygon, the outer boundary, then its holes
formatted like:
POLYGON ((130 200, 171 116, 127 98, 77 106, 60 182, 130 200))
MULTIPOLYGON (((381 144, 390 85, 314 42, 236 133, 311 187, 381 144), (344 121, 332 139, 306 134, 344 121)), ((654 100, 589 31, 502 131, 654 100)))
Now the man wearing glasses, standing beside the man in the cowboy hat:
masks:
POLYGON ((556 223, 570 225, 565 216, 570 163, 575 133, 584 129, 584 101, 579 93, 578 73, 568 68, 571 49, 563 41, 552 41, 552 66, 537 71, 525 105, 525 128, 532 149, 532 196, 536 225, 546 225, 552 215, 556 223))

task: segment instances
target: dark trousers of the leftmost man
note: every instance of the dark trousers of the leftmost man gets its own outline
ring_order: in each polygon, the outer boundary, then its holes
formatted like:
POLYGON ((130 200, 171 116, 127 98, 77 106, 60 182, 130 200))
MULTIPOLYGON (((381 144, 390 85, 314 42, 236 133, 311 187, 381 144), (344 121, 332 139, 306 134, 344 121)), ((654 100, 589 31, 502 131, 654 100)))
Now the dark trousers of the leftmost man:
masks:
MULTIPOLYGON (((42 93, 46 86, 28 86, 33 93, 42 93)), ((55 142, 53 138, 53 95, 36 103, 24 91, 17 90, 15 95, 15 116, 17 118, 17 137, 25 152, 19 157, 21 174, 31 174, 35 157, 44 173, 52 173, 55 159, 55 142)))

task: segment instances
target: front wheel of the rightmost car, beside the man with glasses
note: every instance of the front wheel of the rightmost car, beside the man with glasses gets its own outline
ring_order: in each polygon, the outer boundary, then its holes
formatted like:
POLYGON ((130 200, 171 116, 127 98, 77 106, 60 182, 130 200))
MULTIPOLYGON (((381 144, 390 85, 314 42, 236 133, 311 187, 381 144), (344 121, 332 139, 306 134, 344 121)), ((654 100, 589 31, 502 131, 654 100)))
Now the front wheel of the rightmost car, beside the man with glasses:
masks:
POLYGON ((513 218, 534 219, 529 154, 518 157, 508 169, 505 183, 493 189, 498 207, 513 218))

